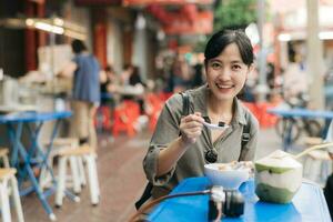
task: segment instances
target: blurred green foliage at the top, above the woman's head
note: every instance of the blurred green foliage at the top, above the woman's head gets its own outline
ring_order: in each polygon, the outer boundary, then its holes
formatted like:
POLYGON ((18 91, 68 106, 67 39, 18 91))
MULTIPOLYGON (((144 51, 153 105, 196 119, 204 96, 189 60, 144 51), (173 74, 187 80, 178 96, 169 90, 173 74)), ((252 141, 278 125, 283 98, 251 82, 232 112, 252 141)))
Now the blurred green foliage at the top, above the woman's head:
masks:
POLYGON ((214 30, 245 28, 256 21, 256 0, 219 0, 214 10, 214 30))

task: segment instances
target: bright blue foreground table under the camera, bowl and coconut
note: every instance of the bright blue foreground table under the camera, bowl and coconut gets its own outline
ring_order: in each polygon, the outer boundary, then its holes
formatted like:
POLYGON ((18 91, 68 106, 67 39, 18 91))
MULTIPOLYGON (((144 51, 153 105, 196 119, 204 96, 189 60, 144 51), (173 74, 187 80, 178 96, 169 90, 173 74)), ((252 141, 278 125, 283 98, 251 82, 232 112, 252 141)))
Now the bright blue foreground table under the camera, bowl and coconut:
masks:
MULTIPOLYGON (((172 193, 205 190, 211 183, 206 178, 190 178, 182 181, 172 193)), ((258 201, 253 181, 240 188, 245 198, 244 214, 240 218, 223 218, 222 221, 254 222, 331 222, 330 212, 320 186, 302 183, 292 203, 274 204, 258 201)), ((208 195, 182 196, 160 203, 150 214, 149 221, 188 222, 208 221, 208 195)))

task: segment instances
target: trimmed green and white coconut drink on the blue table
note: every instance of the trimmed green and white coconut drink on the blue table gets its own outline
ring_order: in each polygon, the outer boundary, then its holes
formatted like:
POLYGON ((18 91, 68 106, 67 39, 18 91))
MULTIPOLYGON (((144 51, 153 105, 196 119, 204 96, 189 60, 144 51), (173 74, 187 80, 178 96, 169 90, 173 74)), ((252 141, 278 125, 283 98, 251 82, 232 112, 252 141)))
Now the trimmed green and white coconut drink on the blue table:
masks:
POLYGON ((283 151, 255 163, 255 193, 262 201, 289 203, 302 184, 302 164, 283 151))

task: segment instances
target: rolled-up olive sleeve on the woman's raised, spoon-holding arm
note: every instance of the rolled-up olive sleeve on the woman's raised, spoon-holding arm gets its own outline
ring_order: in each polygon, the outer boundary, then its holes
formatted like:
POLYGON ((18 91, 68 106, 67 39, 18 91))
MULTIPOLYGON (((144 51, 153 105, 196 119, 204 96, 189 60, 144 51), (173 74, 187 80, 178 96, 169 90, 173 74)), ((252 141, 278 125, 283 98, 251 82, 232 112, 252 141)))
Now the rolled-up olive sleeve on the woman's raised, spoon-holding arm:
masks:
POLYGON ((163 185, 169 182, 174 173, 174 167, 164 175, 157 176, 159 153, 179 137, 179 122, 181 119, 182 98, 173 95, 167 101, 159 117, 155 131, 152 135, 148 153, 143 160, 147 179, 153 185, 163 185))

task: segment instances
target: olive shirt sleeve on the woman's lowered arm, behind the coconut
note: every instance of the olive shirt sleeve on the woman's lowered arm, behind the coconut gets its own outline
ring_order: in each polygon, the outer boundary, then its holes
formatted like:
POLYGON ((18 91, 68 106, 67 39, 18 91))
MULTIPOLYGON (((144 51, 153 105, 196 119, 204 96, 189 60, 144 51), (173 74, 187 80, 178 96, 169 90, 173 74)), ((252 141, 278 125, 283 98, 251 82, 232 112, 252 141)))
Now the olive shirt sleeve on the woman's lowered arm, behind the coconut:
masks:
POLYGON ((241 159, 242 161, 253 161, 255 159, 256 147, 258 147, 258 137, 259 137, 259 122, 253 117, 250 115, 250 140, 242 148, 241 159))

